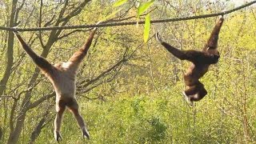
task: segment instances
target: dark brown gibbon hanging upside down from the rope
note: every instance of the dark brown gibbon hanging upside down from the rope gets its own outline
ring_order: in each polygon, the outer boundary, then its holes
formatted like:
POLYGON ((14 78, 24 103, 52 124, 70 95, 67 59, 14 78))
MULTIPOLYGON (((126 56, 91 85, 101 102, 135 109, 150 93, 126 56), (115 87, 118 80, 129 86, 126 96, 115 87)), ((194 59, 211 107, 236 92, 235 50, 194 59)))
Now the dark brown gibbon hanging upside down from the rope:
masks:
POLYGON ((210 34, 210 38, 206 42, 206 45, 202 51, 198 50, 178 50, 174 46, 170 46, 168 43, 163 42, 156 34, 158 42, 166 48, 171 54, 181 60, 187 60, 192 62, 191 66, 186 70, 186 74, 183 75, 186 84, 186 90, 182 92, 186 96, 186 100, 192 105, 193 102, 201 100, 206 96, 207 91, 204 88, 202 82, 199 82, 199 78, 202 78, 209 69, 211 64, 218 62, 220 57, 217 50, 218 47, 218 34, 224 21, 223 17, 218 19, 214 26, 214 30, 210 34))

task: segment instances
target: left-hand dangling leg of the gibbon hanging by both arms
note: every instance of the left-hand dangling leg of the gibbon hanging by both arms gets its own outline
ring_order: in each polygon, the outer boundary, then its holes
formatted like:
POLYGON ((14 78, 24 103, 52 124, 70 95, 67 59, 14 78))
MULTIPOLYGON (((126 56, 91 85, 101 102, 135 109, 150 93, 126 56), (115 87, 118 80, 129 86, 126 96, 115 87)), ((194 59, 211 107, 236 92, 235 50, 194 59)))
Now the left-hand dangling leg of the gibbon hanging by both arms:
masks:
POLYGON ((65 102, 63 102, 62 100, 59 100, 58 102, 56 102, 57 114, 54 120, 54 138, 57 142, 60 142, 62 140, 60 130, 62 125, 62 116, 65 110, 66 110, 65 102))

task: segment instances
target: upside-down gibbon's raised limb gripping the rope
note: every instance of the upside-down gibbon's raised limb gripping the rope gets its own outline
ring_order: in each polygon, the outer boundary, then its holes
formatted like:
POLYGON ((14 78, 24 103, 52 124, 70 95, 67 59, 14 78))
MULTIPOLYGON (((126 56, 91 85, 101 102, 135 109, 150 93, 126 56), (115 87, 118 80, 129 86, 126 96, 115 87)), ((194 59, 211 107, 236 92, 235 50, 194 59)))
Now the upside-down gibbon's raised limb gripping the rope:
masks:
POLYGON ((218 22, 216 22, 216 24, 214 26, 214 30, 211 32, 210 38, 206 42, 206 46, 205 46, 204 49, 208 49, 208 48, 216 49, 217 48, 217 46, 218 46, 218 34, 219 34, 219 31, 221 30, 223 21, 224 21, 224 18, 221 16, 218 19, 218 22))

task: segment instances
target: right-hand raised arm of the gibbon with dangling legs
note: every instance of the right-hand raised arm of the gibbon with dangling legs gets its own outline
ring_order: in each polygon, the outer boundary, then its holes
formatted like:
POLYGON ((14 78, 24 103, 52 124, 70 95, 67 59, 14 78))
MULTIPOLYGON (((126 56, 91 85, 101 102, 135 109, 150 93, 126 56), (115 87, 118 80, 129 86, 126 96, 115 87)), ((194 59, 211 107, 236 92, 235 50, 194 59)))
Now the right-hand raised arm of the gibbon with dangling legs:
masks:
POLYGON ((72 62, 74 65, 78 65, 80 62, 82 62, 82 59, 85 58, 87 51, 90 48, 91 42, 94 39, 94 34, 96 30, 97 28, 94 28, 94 30, 90 33, 89 38, 87 38, 86 43, 82 46, 82 48, 80 48, 71 56, 69 62, 72 62))

